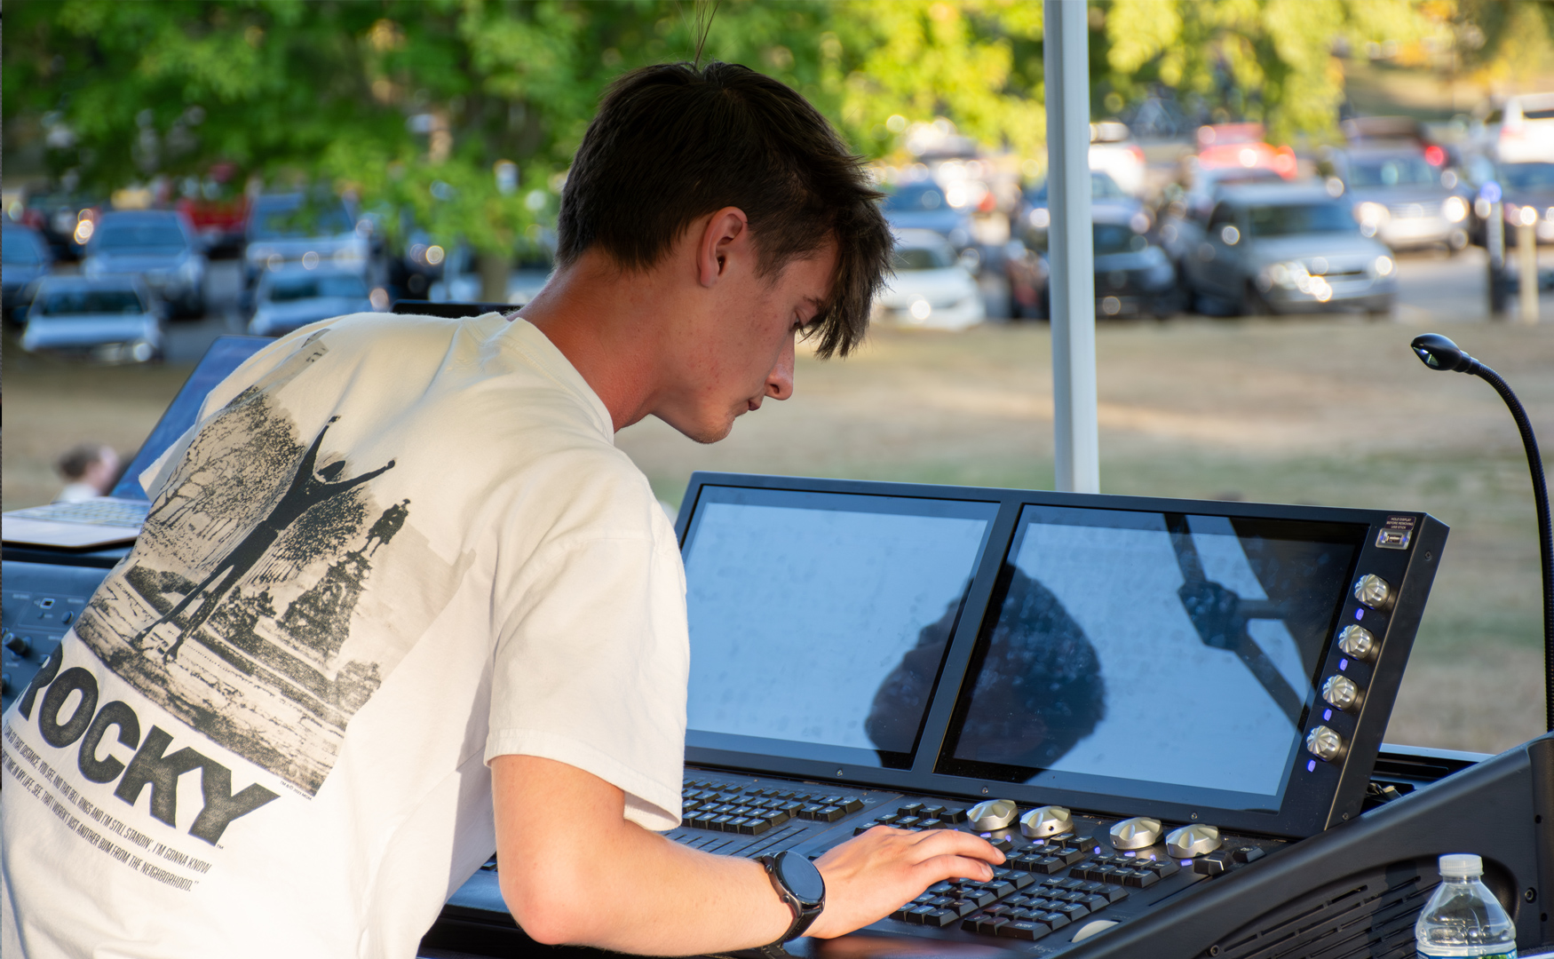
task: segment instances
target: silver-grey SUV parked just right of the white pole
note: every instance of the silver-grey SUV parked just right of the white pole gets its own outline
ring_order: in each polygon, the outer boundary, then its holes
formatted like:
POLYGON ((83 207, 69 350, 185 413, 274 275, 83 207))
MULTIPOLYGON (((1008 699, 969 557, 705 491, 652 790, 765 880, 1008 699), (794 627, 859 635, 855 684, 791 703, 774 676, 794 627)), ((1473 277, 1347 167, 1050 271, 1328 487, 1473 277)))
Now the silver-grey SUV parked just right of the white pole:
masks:
POLYGON ((1392 311, 1397 264, 1321 187, 1239 187, 1183 260, 1200 312, 1392 311))

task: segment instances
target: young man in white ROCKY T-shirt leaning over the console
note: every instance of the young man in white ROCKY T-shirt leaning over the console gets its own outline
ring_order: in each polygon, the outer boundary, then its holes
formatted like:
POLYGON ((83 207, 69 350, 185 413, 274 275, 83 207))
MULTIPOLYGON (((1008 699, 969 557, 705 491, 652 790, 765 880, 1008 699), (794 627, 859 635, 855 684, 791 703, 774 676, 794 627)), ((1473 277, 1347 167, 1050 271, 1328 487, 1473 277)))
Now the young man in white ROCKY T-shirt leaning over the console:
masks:
POLYGON ((674 956, 987 878, 974 836, 876 828, 817 863, 811 917, 793 877, 651 832, 678 822, 684 572, 614 432, 715 441, 791 395, 800 331, 845 354, 875 199, 782 84, 640 70, 516 319, 342 317, 218 387, 6 715, 8 959, 407 957, 493 846, 533 937, 674 956))

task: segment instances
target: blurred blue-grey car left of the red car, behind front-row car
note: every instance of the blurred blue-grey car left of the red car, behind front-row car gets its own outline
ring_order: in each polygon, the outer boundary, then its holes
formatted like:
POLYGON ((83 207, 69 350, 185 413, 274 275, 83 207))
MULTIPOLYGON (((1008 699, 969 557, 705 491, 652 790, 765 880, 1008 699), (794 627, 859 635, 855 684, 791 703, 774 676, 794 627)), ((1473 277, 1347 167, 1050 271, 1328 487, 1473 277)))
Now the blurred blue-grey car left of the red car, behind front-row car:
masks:
POLYGON ((129 274, 177 316, 205 312, 205 253, 188 221, 171 210, 110 210, 87 242, 81 275, 129 274))

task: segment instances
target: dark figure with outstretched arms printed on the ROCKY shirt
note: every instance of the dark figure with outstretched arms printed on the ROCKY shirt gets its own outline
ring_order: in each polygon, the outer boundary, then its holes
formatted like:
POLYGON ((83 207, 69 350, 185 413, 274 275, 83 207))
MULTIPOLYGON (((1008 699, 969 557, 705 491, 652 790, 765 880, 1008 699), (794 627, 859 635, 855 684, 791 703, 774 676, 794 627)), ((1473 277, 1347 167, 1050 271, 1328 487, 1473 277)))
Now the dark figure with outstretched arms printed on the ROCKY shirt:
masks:
MULTIPOLYGON (((202 598, 204 602, 199 609, 196 609, 194 614, 182 623, 177 640, 162 654, 163 661, 176 657, 179 648, 183 645, 183 639, 194 629, 199 629, 205 620, 210 619, 222 597, 225 597, 227 592, 238 584, 238 580, 241 580, 260 560, 266 556, 266 553, 269 553, 275 541, 280 539, 280 536, 291 528, 291 525, 295 524, 303 513, 381 476, 382 473, 387 473, 388 469, 393 469, 395 462, 388 460, 385 466, 379 466, 378 469, 364 473, 348 480, 337 479, 340 473, 345 471, 345 460, 336 460, 334 463, 315 469, 314 465, 319 460, 319 449, 323 446, 323 437, 329 432, 329 426, 333 426, 339 417, 331 417, 329 423, 319 431, 312 446, 308 448, 308 452, 297 465, 297 471, 292 474, 291 486, 287 486, 286 493, 270 510, 269 516, 261 519, 260 524, 253 527, 253 530, 244 536, 242 541, 221 560, 221 563, 216 564, 216 569, 213 569, 204 581, 179 600, 177 605, 163 612, 160 619, 143 628, 135 639, 131 640, 131 645, 140 647, 145 639, 163 623, 177 623, 179 614, 188 609, 194 600, 202 598), (207 589, 210 592, 207 592, 207 589)), ((404 519, 399 518, 398 522, 402 524, 404 519)), ((382 519, 379 519, 379 524, 382 524, 382 519)))

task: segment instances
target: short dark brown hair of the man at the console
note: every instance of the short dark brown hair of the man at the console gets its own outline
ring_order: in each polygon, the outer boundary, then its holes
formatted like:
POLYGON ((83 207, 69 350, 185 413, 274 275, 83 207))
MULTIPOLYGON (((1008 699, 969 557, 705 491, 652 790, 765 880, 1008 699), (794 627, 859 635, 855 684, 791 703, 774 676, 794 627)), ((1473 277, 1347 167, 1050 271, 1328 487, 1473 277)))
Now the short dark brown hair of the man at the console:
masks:
POLYGON ((738 207, 763 275, 836 241, 816 353, 847 356, 890 263, 880 199, 862 157, 788 85, 737 64, 642 67, 611 84, 583 135, 556 261, 597 246, 625 269, 650 269, 698 218, 738 207))

